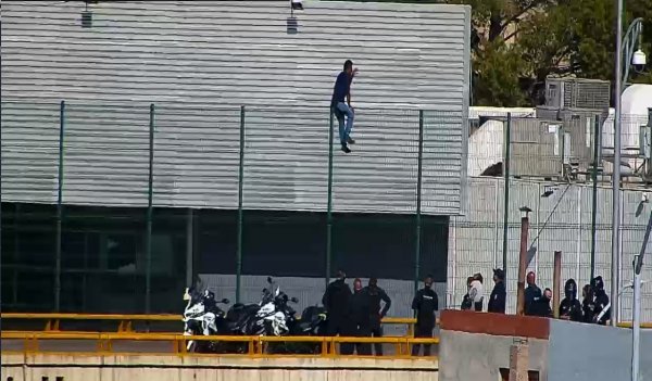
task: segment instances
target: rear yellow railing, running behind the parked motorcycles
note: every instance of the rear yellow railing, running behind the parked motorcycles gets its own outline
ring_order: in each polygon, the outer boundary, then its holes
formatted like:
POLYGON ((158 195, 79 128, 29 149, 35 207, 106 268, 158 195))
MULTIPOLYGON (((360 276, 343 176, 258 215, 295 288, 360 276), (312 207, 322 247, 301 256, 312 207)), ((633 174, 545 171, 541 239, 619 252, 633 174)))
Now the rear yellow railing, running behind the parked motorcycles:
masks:
MULTIPOLYGON (((180 315, 113 315, 113 314, 0 314, 2 320, 43 320, 43 331, 61 331, 62 320, 106 320, 116 321, 117 332, 134 332, 134 322, 163 322, 181 321, 180 315)), ((414 335, 414 318, 385 317, 384 325, 405 325, 408 326, 408 336, 414 335)))

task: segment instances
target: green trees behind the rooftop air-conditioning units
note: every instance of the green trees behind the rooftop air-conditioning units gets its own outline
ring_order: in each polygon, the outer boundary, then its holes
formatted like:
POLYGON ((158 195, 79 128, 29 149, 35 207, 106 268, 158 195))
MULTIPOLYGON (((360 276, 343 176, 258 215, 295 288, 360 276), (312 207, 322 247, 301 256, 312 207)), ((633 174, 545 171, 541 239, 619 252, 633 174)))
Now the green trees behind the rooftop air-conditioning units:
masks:
MULTIPOLYGON (((474 29, 484 33, 477 38, 478 46, 473 58, 477 77, 474 84, 476 104, 513 102, 512 105, 521 105, 523 99, 530 105, 540 104, 541 90, 550 75, 614 78, 613 0, 454 1, 476 7, 474 29), (511 37, 515 37, 513 45, 497 49, 501 40, 506 41, 511 37), (514 62, 505 63, 505 60, 514 62), (517 66, 514 67, 514 64, 517 66), (518 81, 513 76, 518 76, 518 81), (503 86, 497 87, 491 78, 502 78, 503 86), (524 91, 523 97, 518 97, 513 88, 516 82, 524 91)), ((626 3, 624 26, 626 28, 635 17, 644 18, 643 50, 650 56, 652 0, 628 0, 626 3)), ((652 84, 651 72, 649 69, 643 75, 635 73, 630 79, 652 84)))

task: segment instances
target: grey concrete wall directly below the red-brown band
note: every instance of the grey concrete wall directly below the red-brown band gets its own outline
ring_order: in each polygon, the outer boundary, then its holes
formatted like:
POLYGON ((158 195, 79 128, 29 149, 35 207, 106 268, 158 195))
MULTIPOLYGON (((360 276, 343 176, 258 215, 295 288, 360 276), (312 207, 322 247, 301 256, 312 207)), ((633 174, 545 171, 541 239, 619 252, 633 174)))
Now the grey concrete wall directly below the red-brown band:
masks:
MULTIPOLYGON (((497 381, 500 368, 510 368, 510 346, 513 336, 461 331, 440 331, 439 380, 497 381)), ((529 339, 529 370, 538 370, 547 379, 548 341, 529 339)))

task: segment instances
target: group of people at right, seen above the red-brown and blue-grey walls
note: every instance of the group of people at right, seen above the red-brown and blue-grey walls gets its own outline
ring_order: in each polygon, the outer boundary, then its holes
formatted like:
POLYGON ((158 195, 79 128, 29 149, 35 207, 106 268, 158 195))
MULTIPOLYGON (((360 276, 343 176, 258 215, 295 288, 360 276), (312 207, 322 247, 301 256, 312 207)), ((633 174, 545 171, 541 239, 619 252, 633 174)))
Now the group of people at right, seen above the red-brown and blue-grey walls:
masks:
MULTIPOLYGON (((505 274, 502 269, 493 270, 493 291, 489 296, 487 312, 505 313, 505 274)), ((475 274, 468 277, 466 282, 468 292, 462 301, 462 309, 482 310, 484 285, 482 275, 475 274)), ((553 310, 550 306, 552 301, 552 290, 541 289, 537 285, 536 275, 530 271, 527 274, 527 287, 525 289, 525 315, 553 317, 553 310)), ((604 291, 604 281, 598 276, 586 284, 582 289, 582 301, 577 299, 577 282, 575 279, 568 279, 564 284, 564 299, 560 303, 560 319, 581 321, 589 323, 605 325, 610 320, 611 314, 607 308, 609 296, 604 291)))

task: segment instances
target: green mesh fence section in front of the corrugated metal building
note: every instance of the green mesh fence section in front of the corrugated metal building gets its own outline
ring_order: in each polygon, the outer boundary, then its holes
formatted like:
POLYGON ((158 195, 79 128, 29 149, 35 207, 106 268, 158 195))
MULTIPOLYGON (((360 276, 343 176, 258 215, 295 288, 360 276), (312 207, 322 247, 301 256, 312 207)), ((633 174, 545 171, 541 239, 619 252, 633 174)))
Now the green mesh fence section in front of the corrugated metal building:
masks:
POLYGON ((4 310, 178 313, 200 276, 242 302, 281 277, 310 305, 338 268, 394 315, 426 274, 443 291, 462 113, 359 110, 344 154, 328 109, 2 107, 4 310))

